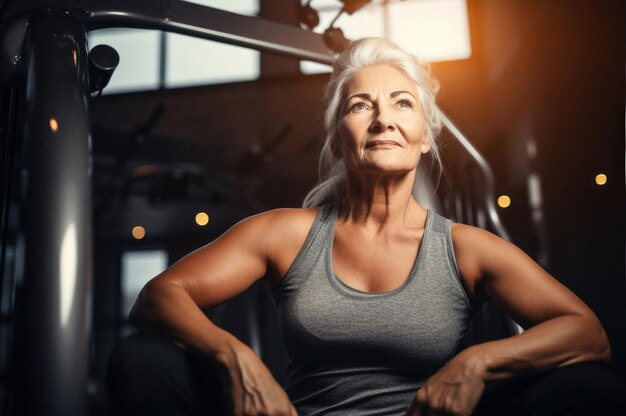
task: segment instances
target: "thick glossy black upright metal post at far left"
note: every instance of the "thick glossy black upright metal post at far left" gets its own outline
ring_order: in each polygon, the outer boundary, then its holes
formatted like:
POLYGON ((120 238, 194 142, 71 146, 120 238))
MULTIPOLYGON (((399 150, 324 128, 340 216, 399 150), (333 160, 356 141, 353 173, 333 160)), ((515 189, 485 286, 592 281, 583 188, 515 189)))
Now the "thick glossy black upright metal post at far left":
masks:
POLYGON ((36 15, 30 25, 14 413, 83 415, 92 286, 86 36, 64 16, 36 15))

